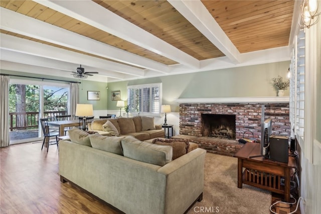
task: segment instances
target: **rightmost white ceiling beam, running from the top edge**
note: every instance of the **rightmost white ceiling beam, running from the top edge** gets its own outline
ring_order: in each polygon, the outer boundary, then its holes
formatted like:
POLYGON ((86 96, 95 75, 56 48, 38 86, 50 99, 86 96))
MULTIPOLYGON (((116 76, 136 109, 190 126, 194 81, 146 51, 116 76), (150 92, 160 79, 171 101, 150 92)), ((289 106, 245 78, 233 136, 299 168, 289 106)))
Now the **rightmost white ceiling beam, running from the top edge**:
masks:
POLYGON ((222 51, 232 63, 240 62, 240 52, 201 1, 168 0, 168 2, 222 51))

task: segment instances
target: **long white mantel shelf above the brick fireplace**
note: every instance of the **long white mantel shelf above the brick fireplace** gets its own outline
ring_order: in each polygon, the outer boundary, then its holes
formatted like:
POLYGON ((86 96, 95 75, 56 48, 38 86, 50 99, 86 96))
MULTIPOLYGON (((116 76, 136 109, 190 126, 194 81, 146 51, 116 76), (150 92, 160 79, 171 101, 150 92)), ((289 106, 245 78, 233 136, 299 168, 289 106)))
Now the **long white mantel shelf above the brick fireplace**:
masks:
POLYGON ((178 103, 288 103, 289 96, 179 98, 178 103))

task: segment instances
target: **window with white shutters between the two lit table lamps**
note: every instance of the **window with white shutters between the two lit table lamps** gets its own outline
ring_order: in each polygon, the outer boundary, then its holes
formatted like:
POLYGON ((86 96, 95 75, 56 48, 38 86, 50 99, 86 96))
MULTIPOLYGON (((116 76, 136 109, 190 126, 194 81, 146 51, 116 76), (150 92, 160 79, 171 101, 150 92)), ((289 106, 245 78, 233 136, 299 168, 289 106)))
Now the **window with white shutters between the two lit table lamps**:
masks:
POLYGON ((127 87, 129 112, 158 114, 161 106, 162 83, 127 87))

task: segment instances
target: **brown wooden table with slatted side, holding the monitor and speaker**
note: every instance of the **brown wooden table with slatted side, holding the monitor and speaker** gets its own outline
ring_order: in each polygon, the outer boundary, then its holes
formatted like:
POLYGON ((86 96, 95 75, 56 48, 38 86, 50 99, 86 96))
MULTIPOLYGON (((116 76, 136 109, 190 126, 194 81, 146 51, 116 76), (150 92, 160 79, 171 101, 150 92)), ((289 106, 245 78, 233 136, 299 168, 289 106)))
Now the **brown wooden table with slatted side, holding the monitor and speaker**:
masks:
POLYGON ((284 194, 285 201, 290 201, 290 169, 296 168, 294 157, 289 156, 288 163, 264 157, 250 158, 259 154, 258 143, 246 143, 235 153, 234 157, 238 158, 237 187, 242 188, 245 183, 284 194), (284 185, 281 185, 281 177, 284 177, 284 185))

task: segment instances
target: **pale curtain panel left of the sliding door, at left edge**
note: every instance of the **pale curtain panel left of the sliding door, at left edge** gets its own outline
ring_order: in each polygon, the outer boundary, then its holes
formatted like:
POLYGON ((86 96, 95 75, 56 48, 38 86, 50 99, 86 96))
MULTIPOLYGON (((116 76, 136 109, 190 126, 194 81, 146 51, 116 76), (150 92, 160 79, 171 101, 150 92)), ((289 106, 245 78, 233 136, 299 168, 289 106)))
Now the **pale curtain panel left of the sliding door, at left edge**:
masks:
POLYGON ((9 84, 10 77, 0 75, 0 137, 1 146, 10 144, 9 137, 9 84))

